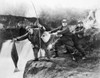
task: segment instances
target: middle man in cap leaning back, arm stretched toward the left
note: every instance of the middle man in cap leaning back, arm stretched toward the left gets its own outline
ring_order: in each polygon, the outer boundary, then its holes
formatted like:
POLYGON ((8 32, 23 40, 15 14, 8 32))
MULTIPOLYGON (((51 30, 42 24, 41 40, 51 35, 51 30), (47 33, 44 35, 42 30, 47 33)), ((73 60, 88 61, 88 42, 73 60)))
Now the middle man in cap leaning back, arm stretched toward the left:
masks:
POLYGON ((52 30, 52 32, 56 32, 56 31, 58 31, 57 33, 61 34, 62 37, 55 44, 55 55, 53 57, 54 58, 58 57, 58 48, 61 45, 65 45, 67 51, 69 53, 72 53, 73 52, 73 47, 72 47, 73 42, 72 42, 72 39, 71 39, 72 33, 70 32, 69 25, 67 25, 67 20, 66 19, 62 20, 62 25, 61 26, 59 26, 58 28, 52 30))

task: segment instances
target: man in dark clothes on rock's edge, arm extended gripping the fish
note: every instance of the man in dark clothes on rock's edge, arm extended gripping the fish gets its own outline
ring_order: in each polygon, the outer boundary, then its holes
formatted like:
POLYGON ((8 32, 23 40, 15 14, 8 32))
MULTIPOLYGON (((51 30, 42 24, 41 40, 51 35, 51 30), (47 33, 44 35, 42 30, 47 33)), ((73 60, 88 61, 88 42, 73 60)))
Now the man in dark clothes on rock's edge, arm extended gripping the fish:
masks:
MULTIPOLYGON (((14 41, 21 41, 21 40, 28 39, 32 43, 34 56, 35 56, 34 61, 38 61, 38 51, 41 48, 41 44, 42 44, 40 37, 45 31, 45 28, 41 24, 37 23, 36 25, 37 26, 34 27, 26 26, 27 33, 20 37, 14 38, 14 41)), ((48 56, 47 58, 49 59, 48 56)))

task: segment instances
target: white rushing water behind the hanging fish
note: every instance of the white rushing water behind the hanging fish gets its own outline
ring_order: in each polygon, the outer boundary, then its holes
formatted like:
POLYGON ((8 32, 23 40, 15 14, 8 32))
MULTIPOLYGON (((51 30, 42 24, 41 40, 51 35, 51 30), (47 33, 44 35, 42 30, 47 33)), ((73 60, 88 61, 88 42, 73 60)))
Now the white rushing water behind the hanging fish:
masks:
POLYGON ((11 50, 13 43, 7 40, 3 43, 0 53, 0 78, 22 78, 26 62, 33 58, 33 52, 28 40, 16 43, 19 55, 18 67, 20 72, 14 73, 14 64, 11 59, 11 50))

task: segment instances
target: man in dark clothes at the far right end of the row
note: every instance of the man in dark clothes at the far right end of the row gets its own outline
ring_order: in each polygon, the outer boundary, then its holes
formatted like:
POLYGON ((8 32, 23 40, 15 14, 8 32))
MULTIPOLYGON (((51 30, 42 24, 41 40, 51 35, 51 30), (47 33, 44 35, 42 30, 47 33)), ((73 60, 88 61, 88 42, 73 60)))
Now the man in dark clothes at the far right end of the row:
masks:
POLYGON ((82 47, 82 44, 84 42, 84 30, 85 28, 83 27, 83 22, 78 21, 78 24, 75 28, 75 31, 73 32, 73 42, 74 42, 74 47, 81 53, 82 59, 85 59, 85 51, 82 47))

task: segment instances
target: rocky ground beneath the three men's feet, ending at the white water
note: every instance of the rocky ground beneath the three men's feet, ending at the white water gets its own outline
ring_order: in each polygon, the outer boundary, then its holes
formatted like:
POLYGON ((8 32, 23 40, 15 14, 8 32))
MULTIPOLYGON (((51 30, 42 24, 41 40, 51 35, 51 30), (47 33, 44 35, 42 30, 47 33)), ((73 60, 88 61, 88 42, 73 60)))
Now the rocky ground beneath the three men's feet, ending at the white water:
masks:
POLYGON ((99 50, 95 50, 87 59, 72 61, 68 54, 60 54, 51 61, 27 62, 23 78, 100 78, 99 50))

